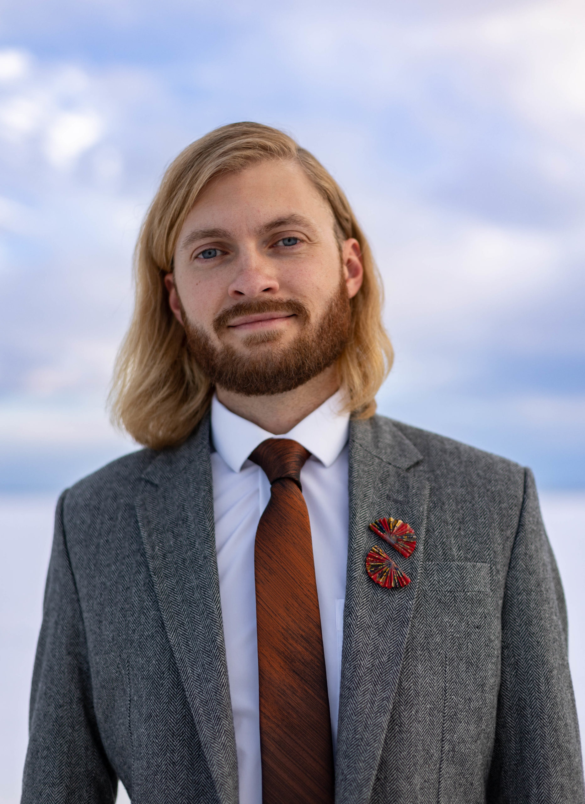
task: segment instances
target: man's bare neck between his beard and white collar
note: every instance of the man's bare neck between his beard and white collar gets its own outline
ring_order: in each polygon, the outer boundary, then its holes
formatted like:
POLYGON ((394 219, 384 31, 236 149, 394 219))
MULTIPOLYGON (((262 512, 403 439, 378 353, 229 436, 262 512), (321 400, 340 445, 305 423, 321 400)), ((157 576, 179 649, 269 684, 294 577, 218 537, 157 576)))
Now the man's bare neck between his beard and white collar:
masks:
POLYGON ((272 435, 280 436, 316 410, 339 389, 337 368, 330 366, 308 383, 284 394, 243 396, 219 386, 217 398, 228 410, 252 421, 272 435))

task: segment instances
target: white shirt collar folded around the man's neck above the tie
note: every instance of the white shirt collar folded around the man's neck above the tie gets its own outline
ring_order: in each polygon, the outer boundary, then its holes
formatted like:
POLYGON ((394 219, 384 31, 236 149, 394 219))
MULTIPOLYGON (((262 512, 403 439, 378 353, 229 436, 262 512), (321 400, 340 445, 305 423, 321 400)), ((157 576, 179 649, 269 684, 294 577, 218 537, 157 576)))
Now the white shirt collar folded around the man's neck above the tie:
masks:
POLYGON ((252 421, 232 413, 214 395, 211 400, 211 439, 217 452, 234 472, 241 470, 248 455, 267 438, 298 441, 324 466, 331 466, 350 434, 350 414, 340 413, 341 406, 342 392, 337 391, 288 433, 275 436, 252 421))

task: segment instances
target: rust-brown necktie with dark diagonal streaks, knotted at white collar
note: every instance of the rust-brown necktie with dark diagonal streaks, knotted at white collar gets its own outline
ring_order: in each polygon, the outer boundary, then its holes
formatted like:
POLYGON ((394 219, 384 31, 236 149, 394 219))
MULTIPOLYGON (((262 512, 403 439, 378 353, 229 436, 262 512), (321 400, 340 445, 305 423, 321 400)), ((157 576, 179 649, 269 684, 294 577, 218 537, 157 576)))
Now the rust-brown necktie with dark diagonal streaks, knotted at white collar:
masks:
POLYGON ((333 745, 309 512, 310 453, 268 438, 250 460, 272 489, 256 531, 263 804, 333 804, 333 745))

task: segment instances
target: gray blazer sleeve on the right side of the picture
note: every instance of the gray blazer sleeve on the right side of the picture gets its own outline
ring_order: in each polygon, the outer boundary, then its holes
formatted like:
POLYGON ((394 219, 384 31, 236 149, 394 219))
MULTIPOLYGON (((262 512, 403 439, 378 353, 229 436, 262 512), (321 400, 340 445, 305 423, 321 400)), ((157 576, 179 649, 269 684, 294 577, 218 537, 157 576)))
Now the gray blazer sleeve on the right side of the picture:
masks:
POLYGON ((583 804, 567 610, 530 470, 505 581, 501 628, 501 687, 488 801, 583 804))

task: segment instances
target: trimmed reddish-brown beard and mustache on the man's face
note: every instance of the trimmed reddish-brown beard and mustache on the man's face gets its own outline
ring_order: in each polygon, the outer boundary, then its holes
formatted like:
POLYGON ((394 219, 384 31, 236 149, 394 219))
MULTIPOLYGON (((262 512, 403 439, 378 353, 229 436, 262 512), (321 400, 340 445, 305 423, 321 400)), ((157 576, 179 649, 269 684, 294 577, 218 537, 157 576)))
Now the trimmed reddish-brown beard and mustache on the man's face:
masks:
POLYGON ((247 348, 242 354, 229 345, 215 347, 207 333, 190 322, 182 310, 191 354, 212 384, 244 396, 292 391, 333 365, 350 337, 351 308, 344 281, 317 322, 311 322, 309 310, 301 301, 261 299, 240 301, 224 310, 215 318, 214 330, 221 338, 230 321, 260 313, 296 315, 301 332, 288 346, 280 346, 279 330, 252 332, 243 338, 247 348))

